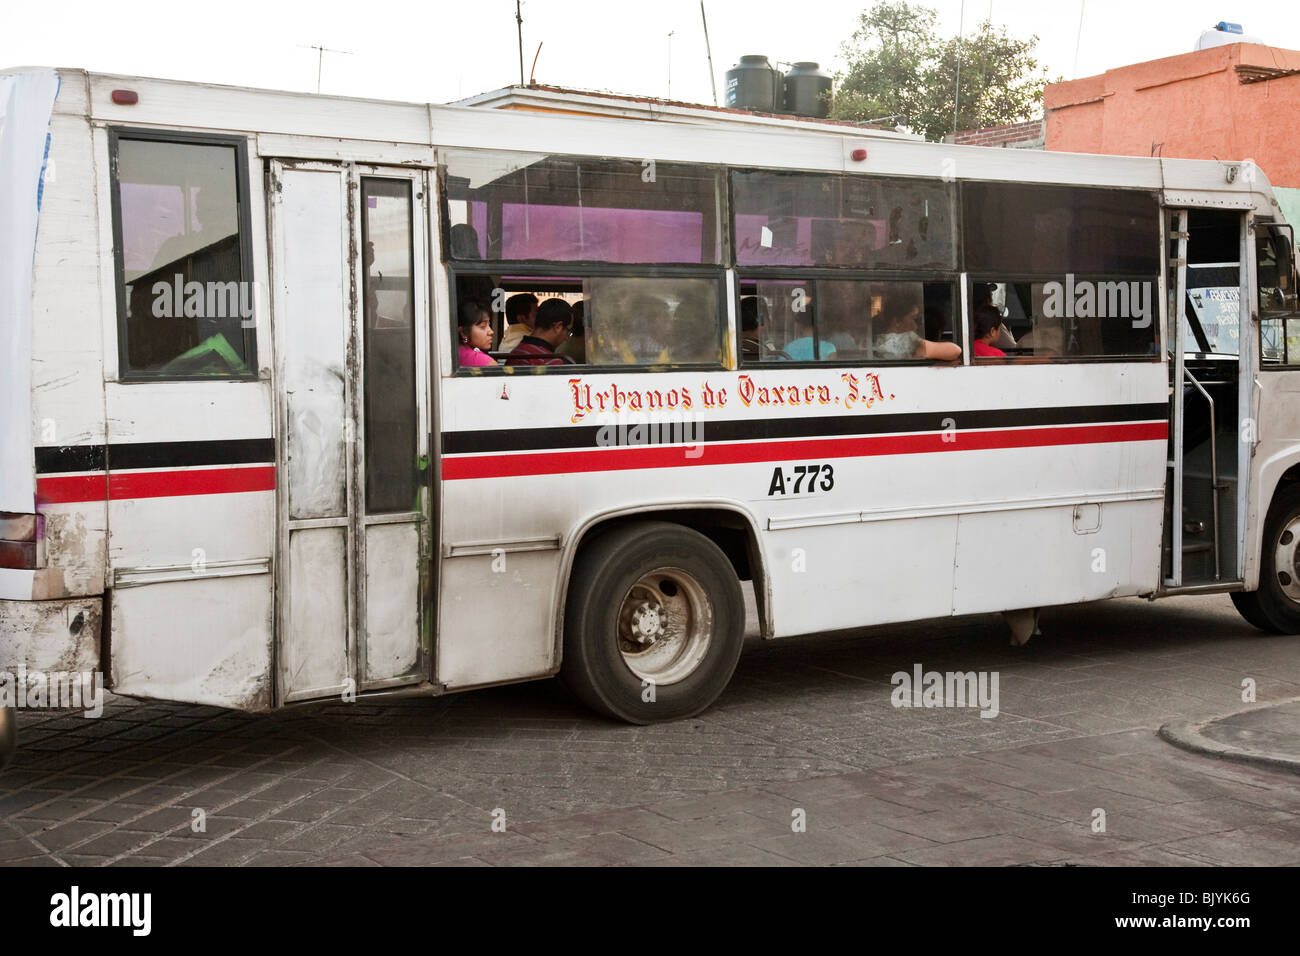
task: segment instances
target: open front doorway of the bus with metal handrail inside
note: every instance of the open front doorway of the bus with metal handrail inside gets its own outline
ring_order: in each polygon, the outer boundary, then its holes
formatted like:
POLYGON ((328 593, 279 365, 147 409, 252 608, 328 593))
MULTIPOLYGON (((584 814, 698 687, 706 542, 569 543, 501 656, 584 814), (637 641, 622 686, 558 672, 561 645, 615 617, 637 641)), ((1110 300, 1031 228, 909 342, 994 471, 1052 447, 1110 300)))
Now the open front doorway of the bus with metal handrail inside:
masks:
POLYGON ((1239 209, 1167 211, 1170 442, 1164 591, 1244 576, 1249 277, 1239 209))

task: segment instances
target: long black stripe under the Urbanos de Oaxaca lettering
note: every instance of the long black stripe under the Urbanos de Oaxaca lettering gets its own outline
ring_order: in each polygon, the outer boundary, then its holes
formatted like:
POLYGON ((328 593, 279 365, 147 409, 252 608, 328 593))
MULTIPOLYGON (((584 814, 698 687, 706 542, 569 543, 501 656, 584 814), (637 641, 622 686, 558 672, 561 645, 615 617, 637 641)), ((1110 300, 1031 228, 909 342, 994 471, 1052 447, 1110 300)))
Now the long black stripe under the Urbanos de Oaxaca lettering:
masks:
MULTIPOLYGON (((694 410, 698 414, 698 410, 694 410)), ((672 412, 666 412, 660 428, 671 429, 672 412)), ((797 419, 753 419, 705 421, 684 412, 682 421, 701 421, 701 431, 686 431, 686 440, 707 442, 759 441, 763 438, 822 438, 848 434, 889 434, 941 432, 948 428, 1026 428, 1043 425, 1095 425, 1123 421, 1164 421, 1169 406, 1152 405, 1086 405, 1057 408, 984 408, 971 411, 927 411, 897 415, 829 415, 797 419), (693 438, 692 436, 697 436, 693 438)), ((628 427, 634 425, 629 421, 628 427)), ((560 428, 506 428, 465 432, 443 432, 442 451, 448 455, 485 451, 549 451, 555 449, 595 447, 602 425, 560 428)), ((662 436, 660 442, 673 438, 662 436)), ((680 441, 680 438, 679 438, 680 441)))

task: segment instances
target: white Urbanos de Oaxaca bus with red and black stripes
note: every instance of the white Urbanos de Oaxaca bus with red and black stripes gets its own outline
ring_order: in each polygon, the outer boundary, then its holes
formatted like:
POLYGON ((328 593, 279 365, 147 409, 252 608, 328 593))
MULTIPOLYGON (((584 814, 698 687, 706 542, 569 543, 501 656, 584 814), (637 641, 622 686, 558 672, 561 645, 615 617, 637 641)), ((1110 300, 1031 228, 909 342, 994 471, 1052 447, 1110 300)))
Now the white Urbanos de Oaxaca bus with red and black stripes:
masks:
POLYGON ((1264 174, 810 126, 0 74, 0 670, 653 722, 727 685, 742 587, 766 639, 1300 630, 1264 174))

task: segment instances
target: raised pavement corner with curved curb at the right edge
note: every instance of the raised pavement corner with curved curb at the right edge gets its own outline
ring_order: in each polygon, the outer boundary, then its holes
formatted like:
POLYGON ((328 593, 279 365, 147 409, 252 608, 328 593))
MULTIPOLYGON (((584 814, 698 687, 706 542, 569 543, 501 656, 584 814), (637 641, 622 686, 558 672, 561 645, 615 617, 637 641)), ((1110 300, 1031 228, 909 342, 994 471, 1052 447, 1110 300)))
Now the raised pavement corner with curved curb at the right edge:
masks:
POLYGON ((1160 728, 1169 743, 1209 757, 1300 774, 1300 698, 1160 728))

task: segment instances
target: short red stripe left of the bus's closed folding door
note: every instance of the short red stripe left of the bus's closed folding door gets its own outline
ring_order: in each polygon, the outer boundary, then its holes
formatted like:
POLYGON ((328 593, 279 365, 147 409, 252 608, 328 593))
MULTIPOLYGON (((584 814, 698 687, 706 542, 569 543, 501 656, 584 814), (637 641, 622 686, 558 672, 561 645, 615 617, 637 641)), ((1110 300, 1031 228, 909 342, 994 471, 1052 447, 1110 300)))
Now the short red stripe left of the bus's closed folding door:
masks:
POLYGON ((36 479, 36 501, 69 503, 124 498, 174 498, 192 494, 273 492, 276 466, 139 471, 109 475, 51 475, 36 479), (107 479, 107 480, 105 480, 107 479))

